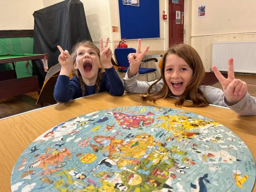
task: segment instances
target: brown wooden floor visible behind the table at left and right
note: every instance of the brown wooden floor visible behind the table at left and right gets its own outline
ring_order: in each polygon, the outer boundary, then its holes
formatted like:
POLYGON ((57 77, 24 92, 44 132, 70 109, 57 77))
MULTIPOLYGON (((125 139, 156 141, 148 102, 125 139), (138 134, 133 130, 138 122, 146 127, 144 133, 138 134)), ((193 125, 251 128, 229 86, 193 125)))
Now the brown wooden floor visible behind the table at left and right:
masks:
MULTIPOLYGON (((249 94, 256 97, 256 75, 235 74, 235 78, 245 81, 247 83, 249 94)), ((206 85, 209 84, 221 89, 220 83, 216 83, 216 81, 208 81, 208 83, 206 83, 206 85)), ((0 119, 40 108, 40 104, 36 105, 37 98, 38 92, 31 92, 26 95, 19 95, 0 100, 0 119)), ((43 104, 44 107, 48 105, 49 104, 43 104)))

